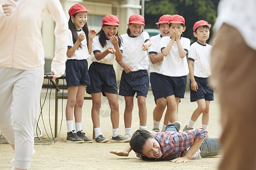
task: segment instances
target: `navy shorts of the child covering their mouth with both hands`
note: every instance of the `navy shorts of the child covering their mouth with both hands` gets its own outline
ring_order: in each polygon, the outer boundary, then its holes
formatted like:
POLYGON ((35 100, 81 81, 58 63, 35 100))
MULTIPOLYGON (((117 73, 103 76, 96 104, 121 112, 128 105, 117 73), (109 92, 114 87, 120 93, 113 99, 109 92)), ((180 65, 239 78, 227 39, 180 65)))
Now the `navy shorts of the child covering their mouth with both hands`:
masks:
POLYGON ((187 86, 187 75, 184 76, 166 76, 163 75, 165 97, 175 95, 178 98, 184 98, 187 86))

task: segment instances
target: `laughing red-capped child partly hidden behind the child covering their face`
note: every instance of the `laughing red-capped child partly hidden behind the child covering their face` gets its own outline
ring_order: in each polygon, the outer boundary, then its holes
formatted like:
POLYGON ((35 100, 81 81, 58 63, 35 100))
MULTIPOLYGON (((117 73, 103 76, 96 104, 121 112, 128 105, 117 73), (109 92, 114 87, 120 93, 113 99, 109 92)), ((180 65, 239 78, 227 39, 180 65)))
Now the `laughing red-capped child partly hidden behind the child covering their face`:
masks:
MULTIPOLYGON (((160 120, 167 105, 166 98, 164 98, 163 75, 160 74, 160 69, 163 63, 163 54, 161 53, 160 49, 160 41, 164 36, 171 36, 168 24, 170 17, 171 15, 163 15, 159 18, 156 24, 158 25, 158 29, 161 33, 159 35, 150 37, 151 46, 148 49, 150 54, 150 66, 148 71, 150 72, 150 83, 156 103, 156 107, 153 111, 154 127, 152 131, 156 132, 160 131, 160 120)), ((166 112, 166 115, 164 116, 162 131, 166 129, 168 121, 169 112, 166 112)))

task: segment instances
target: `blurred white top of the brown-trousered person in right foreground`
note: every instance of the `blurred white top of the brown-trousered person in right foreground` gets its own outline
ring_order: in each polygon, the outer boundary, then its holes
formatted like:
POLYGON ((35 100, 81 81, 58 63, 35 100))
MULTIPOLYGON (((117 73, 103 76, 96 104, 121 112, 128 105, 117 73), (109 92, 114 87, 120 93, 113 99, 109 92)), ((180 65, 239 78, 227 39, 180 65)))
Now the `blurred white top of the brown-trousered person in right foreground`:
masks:
POLYGON ((222 0, 218 5, 218 17, 214 28, 220 29, 223 23, 236 28, 246 44, 256 50, 255 16, 255 0, 222 0))

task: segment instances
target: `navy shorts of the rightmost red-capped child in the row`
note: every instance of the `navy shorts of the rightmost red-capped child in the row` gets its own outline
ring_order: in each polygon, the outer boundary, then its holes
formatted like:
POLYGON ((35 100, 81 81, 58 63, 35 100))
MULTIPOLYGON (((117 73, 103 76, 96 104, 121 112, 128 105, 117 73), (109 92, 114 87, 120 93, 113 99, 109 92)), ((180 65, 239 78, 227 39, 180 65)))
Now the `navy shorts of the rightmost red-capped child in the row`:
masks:
MULTIPOLYGON (((190 86, 190 101, 196 101, 199 99, 205 99, 208 101, 214 100, 213 97, 213 90, 210 88, 208 84, 208 78, 200 78, 195 76, 196 83, 198 85, 198 90, 193 91, 191 90, 190 86)), ((191 80, 190 80, 191 85, 191 80)))

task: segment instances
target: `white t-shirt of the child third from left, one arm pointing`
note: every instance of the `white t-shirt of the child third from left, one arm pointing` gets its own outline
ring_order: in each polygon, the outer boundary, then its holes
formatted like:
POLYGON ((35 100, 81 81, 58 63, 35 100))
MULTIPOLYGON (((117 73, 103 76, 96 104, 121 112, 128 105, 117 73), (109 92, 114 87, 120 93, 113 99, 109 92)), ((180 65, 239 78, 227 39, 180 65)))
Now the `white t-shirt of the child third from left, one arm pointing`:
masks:
MULTIPOLYGON (((121 37, 123 39, 122 61, 132 67, 132 71, 147 70, 149 58, 147 51, 142 50, 142 44, 150 40, 148 33, 143 31, 137 37, 131 37, 125 33, 121 37)), ((120 66, 120 69, 123 70, 123 67, 120 66)))

